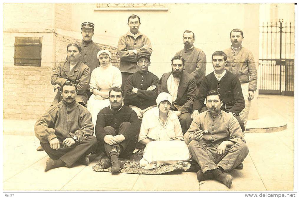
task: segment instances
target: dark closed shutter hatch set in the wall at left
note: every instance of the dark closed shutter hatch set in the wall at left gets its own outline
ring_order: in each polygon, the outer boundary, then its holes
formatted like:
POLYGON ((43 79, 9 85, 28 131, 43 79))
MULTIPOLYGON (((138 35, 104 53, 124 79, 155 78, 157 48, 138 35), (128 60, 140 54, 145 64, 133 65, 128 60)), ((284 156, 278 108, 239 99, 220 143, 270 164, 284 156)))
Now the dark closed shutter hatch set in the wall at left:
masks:
POLYGON ((14 65, 41 66, 42 37, 15 37, 14 65))

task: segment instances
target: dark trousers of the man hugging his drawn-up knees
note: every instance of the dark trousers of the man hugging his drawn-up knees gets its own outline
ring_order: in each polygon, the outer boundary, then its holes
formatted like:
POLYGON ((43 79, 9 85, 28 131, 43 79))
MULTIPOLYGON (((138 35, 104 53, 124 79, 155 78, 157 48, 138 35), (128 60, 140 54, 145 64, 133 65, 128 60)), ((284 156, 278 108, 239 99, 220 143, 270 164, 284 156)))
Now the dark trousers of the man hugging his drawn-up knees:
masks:
MULTIPOLYGON (((107 132, 109 135, 120 135, 122 134, 125 130, 127 130, 129 127, 131 127, 131 123, 130 122, 123 122, 122 124, 120 124, 119 127, 119 132, 116 132, 115 129, 111 126, 107 126, 104 127, 104 131, 107 132)), ((120 149, 119 152, 119 156, 120 157, 128 157, 132 154, 132 152, 135 149, 135 133, 130 135, 130 138, 125 139, 124 141, 118 143, 118 144, 114 144, 114 145, 109 145, 106 144, 103 140, 98 139, 98 141, 100 142, 100 147, 102 149, 104 149, 105 153, 107 154, 107 156, 109 156, 109 153, 111 150, 113 150, 114 147, 118 147, 120 149)))

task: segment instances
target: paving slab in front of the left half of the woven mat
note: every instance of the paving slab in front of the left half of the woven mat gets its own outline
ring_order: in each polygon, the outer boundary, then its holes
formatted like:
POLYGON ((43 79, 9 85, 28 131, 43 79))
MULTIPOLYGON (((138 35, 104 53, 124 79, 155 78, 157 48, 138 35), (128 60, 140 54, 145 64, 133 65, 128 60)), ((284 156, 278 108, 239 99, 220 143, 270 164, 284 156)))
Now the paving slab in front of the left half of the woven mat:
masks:
POLYGON ((98 189, 104 188, 131 190, 138 177, 138 174, 119 173, 112 175, 108 172, 96 172, 91 167, 85 167, 61 190, 98 191, 98 189))

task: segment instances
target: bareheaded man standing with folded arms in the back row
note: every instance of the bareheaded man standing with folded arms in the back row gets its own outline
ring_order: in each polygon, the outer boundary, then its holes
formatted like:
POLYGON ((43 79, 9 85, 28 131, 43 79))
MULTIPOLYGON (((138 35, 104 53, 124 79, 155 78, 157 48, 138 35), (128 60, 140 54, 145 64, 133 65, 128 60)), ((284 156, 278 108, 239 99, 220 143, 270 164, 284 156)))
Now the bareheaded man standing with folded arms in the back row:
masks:
POLYGON ((122 90, 125 92, 127 78, 139 70, 136 55, 140 52, 152 53, 150 39, 139 31, 140 17, 133 14, 128 17, 129 31, 122 35, 118 42, 120 71, 122 73, 122 90))

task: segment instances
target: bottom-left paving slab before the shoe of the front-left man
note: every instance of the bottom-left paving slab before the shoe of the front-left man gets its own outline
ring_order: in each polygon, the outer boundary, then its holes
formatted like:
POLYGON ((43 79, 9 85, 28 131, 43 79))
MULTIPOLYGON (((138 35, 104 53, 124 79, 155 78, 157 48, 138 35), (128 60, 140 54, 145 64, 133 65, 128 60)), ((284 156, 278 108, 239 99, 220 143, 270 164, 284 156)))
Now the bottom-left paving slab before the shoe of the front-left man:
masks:
MULTIPOLYGON (((60 190, 86 166, 59 167, 44 172, 45 157, 3 183, 4 190, 60 190)), ((85 178, 86 179, 86 178, 85 178)))

